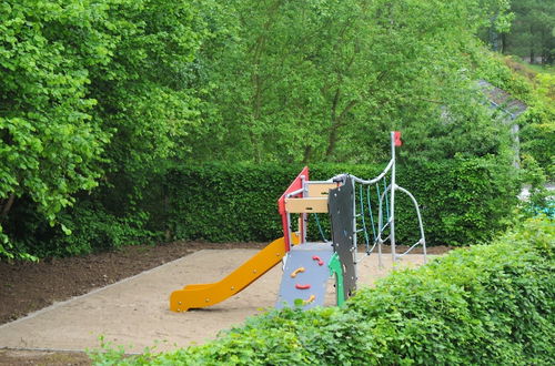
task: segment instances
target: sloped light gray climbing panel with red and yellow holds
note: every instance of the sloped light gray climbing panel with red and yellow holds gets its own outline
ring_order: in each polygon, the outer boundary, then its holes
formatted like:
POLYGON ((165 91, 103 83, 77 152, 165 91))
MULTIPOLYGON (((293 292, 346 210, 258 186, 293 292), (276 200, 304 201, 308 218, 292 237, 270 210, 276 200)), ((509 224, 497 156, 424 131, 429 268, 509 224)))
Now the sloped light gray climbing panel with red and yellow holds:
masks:
POLYGON ((280 286, 276 308, 294 307, 296 298, 304 301, 303 309, 323 306, 333 248, 326 243, 306 243, 291 247, 280 286))

